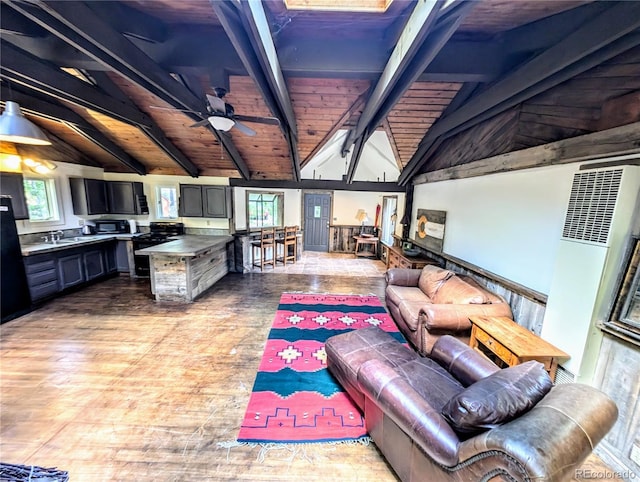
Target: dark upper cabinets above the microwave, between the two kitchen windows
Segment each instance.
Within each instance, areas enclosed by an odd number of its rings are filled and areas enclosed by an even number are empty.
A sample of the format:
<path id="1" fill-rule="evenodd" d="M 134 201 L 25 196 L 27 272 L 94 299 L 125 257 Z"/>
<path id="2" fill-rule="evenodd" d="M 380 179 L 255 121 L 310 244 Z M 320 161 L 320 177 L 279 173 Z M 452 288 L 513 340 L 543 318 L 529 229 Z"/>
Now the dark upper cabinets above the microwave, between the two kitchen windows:
<path id="1" fill-rule="evenodd" d="M 141 182 L 69 178 L 73 213 L 149 214 Z"/>

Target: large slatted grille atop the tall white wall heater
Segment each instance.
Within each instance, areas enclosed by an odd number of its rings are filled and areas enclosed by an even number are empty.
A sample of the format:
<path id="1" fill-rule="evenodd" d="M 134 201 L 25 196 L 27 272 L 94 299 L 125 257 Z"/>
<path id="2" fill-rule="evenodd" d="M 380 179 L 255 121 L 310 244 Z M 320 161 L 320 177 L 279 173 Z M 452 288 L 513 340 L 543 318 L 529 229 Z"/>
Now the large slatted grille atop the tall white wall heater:
<path id="1" fill-rule="evenodd" d="M 622 169 L 575 174 L 562 236 L 607 244 L 621 179 Z"/>

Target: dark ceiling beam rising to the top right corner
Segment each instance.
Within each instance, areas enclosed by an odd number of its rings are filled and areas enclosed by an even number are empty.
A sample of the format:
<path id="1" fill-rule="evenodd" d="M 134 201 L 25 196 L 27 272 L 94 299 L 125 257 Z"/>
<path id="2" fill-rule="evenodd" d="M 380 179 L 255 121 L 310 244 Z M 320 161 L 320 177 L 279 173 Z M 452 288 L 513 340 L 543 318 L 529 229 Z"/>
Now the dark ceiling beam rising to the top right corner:
<path id="1" fill-rule="evenodd" d="M 435 152 L 439 139 L 451 137 L 483 120 L 558 85 L 640 44 L 640 3 L 619 2 L 582 24 L 564 40 L 477 93 L 441 117 L 426 133 L 398 182 L 406 185 Z M 636 32 L 634 32 L 636 31 Z"/>

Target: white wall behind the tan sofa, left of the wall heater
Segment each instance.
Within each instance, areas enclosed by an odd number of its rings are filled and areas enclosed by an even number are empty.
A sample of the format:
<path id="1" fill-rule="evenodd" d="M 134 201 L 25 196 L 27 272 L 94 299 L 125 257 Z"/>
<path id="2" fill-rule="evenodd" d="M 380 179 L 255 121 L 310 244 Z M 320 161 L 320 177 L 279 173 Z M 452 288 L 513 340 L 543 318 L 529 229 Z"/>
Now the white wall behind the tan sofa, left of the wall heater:
<path id="1" fill-rule="evenodd" d="M 446 211 L 446 254 L 548 294 L 578 164 L 415 186 L 417 209 Z"/>

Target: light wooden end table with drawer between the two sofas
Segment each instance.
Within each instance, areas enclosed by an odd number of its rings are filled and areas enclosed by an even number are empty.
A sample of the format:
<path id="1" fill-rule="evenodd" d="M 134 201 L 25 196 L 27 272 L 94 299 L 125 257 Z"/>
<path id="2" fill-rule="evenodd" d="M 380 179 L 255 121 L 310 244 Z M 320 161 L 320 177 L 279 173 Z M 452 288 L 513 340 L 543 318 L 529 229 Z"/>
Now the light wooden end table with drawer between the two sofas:
<path id="1" fill-rule="evenodd" d="M 497 357 L 506 366 L 537 360 L 555 380 L 558 362 L 569 359 L 565 352 L 510 318 L 472 316 L 469 320 L 472 324 L 469 345 L 489 358 Z"/>

